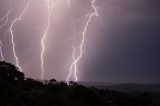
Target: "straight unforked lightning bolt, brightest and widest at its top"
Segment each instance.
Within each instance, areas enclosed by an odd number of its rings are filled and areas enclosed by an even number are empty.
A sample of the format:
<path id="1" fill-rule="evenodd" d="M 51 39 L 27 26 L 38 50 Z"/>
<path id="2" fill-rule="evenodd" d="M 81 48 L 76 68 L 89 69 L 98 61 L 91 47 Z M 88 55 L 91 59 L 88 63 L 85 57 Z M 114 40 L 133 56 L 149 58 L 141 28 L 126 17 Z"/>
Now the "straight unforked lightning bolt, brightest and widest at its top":
<path id="1" fill-rule="evenodd" d="M 41 79 L 44 78 L 44 52 L 45 52 L 45 39 L 47 36 L 47 33 L 49 31 L 49 27 L 50 27 L 50 21 L 51 21 L 51 15 L 52 15 L 52 10 L 54 8 L 54 1 L 52 0 L 46 0 L 46 5 L 47 5 L 47 9 L 48 9 L 48 21 L 47 21 L 47 27 L 44 31 L 44 35 L 41 39 L 41 46 L 42 46 L 42 51 L 41 51 L 41 70 L 42 70 L 42 76 Z"/>

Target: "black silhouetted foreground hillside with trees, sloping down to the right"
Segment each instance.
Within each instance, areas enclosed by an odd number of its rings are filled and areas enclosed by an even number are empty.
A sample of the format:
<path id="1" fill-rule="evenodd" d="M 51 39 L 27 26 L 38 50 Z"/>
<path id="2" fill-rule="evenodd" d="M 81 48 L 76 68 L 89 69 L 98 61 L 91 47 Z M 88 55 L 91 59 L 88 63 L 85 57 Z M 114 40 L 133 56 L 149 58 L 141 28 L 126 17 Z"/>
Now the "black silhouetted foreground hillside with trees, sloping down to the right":
<path id="1" fill-rule="evenodd" d="M 123 93 L 55 79 L 42 83 L 0 62 L 0 106 L 160 106 L 160 94 Z"/>

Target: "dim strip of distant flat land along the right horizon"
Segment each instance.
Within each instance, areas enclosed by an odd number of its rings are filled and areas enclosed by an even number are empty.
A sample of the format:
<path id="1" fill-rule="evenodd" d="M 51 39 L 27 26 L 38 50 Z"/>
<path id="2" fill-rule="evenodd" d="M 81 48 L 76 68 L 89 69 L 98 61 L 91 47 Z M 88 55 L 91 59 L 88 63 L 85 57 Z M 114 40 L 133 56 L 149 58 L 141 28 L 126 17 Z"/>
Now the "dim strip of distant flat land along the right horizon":
<path id="1" fill-rule="evenodd" d="M 120 92 L 158 92 L 160 93 L 160 84 L 118 84 L 104 82 L 78 82 L 89 87 L 99 89 L 111 89 Z"/>

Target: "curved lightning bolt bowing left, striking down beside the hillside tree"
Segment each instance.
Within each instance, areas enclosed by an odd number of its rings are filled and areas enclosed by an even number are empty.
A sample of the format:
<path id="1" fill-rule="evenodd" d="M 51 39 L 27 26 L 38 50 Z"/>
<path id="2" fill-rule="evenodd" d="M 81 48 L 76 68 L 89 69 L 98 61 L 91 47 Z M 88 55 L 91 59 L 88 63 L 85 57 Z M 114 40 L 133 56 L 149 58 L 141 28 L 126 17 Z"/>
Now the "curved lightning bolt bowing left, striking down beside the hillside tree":
<path id="1" fill-rule="evenodd" d="M 16 66 L 19 68 L 19 70 L 22 72 L 22 67 L 20 67 L 19 65 L 19 59 L 18 59 L 18 56 L 16 55 L 16 50 L 15 50 L 15 42 L 14 42 L 14 34 L 13 34 L 13 27 L 14 25 L 18 22 L 18 21 L 21 21 L 22 20 L 22 17 L 24 16 L 24 14 L 28 11 L 28 8 L 29 8 L 29 5 L 32 3 L 33 0 L 29 0 L 27 2 L 27 6 L 26 8 L 22 11 L 22 13 L 20 14 L 20 16 L 18 18 L 15 18 L 12 23 L 11 23 L 11 26 L 10 26 L 10 33 L 11 33 L 11 41 L 12 41 L 12 49 L 13 49 L 13 55 L 14 55 L 14 58 L 15 58 L 15 63 L 16 63 Z"/>

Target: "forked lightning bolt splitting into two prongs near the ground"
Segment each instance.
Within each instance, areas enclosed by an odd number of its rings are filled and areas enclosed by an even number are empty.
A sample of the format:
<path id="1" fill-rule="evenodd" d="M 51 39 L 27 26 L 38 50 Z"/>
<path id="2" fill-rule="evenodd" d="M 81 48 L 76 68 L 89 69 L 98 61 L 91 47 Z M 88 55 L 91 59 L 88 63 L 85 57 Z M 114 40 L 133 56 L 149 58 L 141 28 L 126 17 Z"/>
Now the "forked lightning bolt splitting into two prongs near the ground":
<path id="1" fill-rule="evenodd" d="M 78 68 L 77 68 L 77 64 L 78 64 L 78 62 L 80 61 L 80 59 L 82 58 L 82 56 L 83 56 L 83 47 L 84 47 L 84 42 L 85 42 L 85 38 L 86 38 L 87 29 L 88 29 L 88 26 L 89 26 L 92 18 L 93 18 L 94 16 L 98 16 L 98 11 L 97 11 L 97 8 L 96 8 L 96 6 L 95 6 L 95 2 L 96 2 L 96 0 L 92 0 L 92 1 L 91 1 L 91 3 L 92 3 L 92 4 L 91 4 L 91 5 L 92 5 L 92 9 L 93 9 L 94 11 L 93 11 L 92 13 L 90 13 L 90 15 L 89 15 L 89 17 L 88 17 L 88 19 L 87 19 L 87 22 L 86 22 L 86 24 L 85 24 L 85 26 L 84 26 L 84 30 L 83 30 L 83 32 L 82 32 L 82 40 L 81 40 L 81 43 L 80 43 L 80 45 L 79 45 L 79 51 L 80 51 L 80 53 L 79 53 L 78 56 L 76 56 L 76 50 L 77 50 L 77 48 L 73 47 L 73 54 L 72 54 L 73 62 L 71 63 L 70 73 L 69 73 L 69 75 L 68 75 L 68 77 L 67 77 L 67 79 L 66 79 L 67 84 L 69 84 L 69 81 L 70 81 L 70 78 L 71 78 L 72 73 L 74 73 L 74 77 L 75 77 L 75 80 L 74 80 L 74 81 L 75 81 L 75 82 L 78 81 L 78 76 L 77 76 Z"/>

